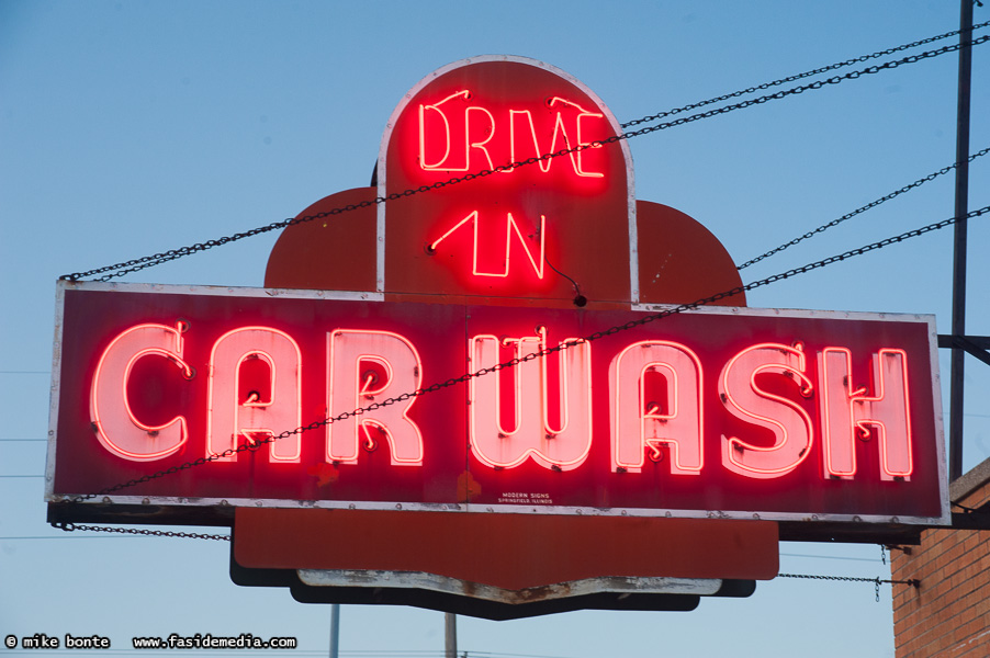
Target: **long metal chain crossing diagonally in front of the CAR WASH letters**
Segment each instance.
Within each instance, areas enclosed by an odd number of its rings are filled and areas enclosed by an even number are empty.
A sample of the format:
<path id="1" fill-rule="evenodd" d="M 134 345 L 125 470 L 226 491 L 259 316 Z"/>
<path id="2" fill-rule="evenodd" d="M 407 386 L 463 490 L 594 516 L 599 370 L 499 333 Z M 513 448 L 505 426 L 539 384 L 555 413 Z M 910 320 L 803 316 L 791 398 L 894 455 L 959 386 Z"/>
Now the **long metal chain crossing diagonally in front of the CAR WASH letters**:
<path id="1" fill-rule="evenodd" d="M 820 261 L 815 261 L 813 263 L 808 263 L 800 268 L 794 268 L 792 270 L 788 270 L 786 272 L 774 274 L 773 276 L 767 276 L 766 279 L 761 279 L 758 281 L 754 281 L 754 282 L 747 283 L 745 285 L 736 286 L 732 290 L 723 291 L 721 293 L 717 293 L 709 297 L 704 297 L 701 299 L 697 299 L 695 302 L 690 302 L 687 304 L 679 304 L 677 306 L 672 306 L 662 311 L 645 315 L 645 316 L 637 318 L 634 320 L 630 320 L 630 321 L 626 322 L 625 325 L 617 325 L 614 327 L 609 327 L 608 329 L 604 329 L 601 331 L 595 331 L 584 338 L 564 341 L 562 343 L 559 343 L 559 344 L 556 344 L 554 347 L 550 347 L 550 348 L 542 348 L 536 352 L 531 352 L 524 356 L 517 356 L 517 358 L 510 359 L 508 361 L 505 361 L 503 363 L 496 363 L 495 365 L 492 365 L 488 367 L 483 367 L 473 373 L 464 373 L 463 375 L 461 375 L 459 377 L 451 377 L 445 382 L 437 382 L 426 388 L 419 388 L 417 390 L 403 393 L 402 395 L 397 395 L 395 397 L 391 397 L 391 398 L 384 399 L 379 402 L 373 402 L 367 407 L 361 407 L 361 408 L 355 409 L 353 411 L 345 411 L 337 416 L 325 418 L 323 420 L 317 420 L 317 421 L 311 422 L 307 426 L 302 426 L 302 427 L 295 428 L 294 430 L 285 430 L 279 434 L 271 434 L 271 435 L 265 436 L 262 439 L 258 439 L 250 444 L 243 443 L 243 444 L 238 445 L 237 447 L 230 447 L 221 453 L 215 453 L 215 454 L 212 454 L 212 455 L 209 455 L 205 457 L 200 457 L 192 462 L 187 462 L 184 464 L 180 464 L 178 466 L 172 466 L 172 467 L 166 468 L 164 470 L 158 470 L 155 473 L 146 474 L 140 477 L 137 477 L 137 478 L 134 478 L 134 479 L 131 479 L 131 480 L 127 480 L 124 483 L 120 483 L 112 487 L 106 487 L 105 489 L 102 489 L 102 490 L 98 491 L 97 494 L 74 496 L 74 497 L 69 498 L 69 501 L 70 502 L 81 502 L 83 500 L 91 500 L 91 499 L 98 498 L 100 496 L 108 496 L 110 494 L 115 494 L 117 491 L 134 487 L 136 485 L 140 485 L 140 484 L 154 480 L 154 479 L 158 479 L 158 478 L 161 478 L 161 477 L 165 477 L 168 475 L 172 475 L 175 473 L 179 473 L 181 470 L 193 468 L 195 466 L 202 466 L 203 464 L 209 464 L 211 462 L 215 462 L 215 461 L 224 458 L 224 457 L 229 457 L 229 456 L 236 455 L 241 452 L 256 451 L 256 450 L 260 449 L 262 445 L 274 443 L 275 441 L 281 441 L 283 439 L 288 439 L 289 436 L 294 436 L 296 434 L 302 434 L 303 432 L 317 430 L 319 428 L 333 424 L 334 422 L 338 422 L 338 421 L 345 420 L 347 418 L 351 418 L 355 416 L 361 416 L 363 413 L 368 413 L 370 411 L 374 411 L 374 410 L 381 409 L 383 407 L 389 407 L 391 405 L 395 405 L 398 402 L 405 402 L 413 398 L 421 397 L 421 396 L 428 395 L 430 393 L 436 393 L 443 388 L 457 386 L 458 384 L 465 384 L 476 377 L 483 377 L 483 376 L 490 375 L 492 373 L 496 373 L 496 372 L 499 372 L 499 371 L 503 371 L 506 368 L 515 367 L 521 363 L 526 363 L 526 362 L 532 361 L 535 359 L 540 359 L 548 354 L 553 354 L 555 352 L 561 352 L 563 350 L 567 350 L 577 344 L 582 344 L 585 342 L 593 342 L 593 341 L 603 339 L 608 336 L 614 336 L 621 331 L 628 331 L 630 329 L 634 329 L 637 327 L 642 327 L 644 325 L 649 325 L 650 322 L 655 322 L 657 320 L 662 320 L 664 318 L 667 318 L 667 317 L 671 317 L 674 315 L 686 313 L 688 310 L 694 310 L 696 308 L 700 308 L 701 306 L 713 304 L 715 302 L 719 302 L 721 299 L 734 297 L 735 295 L 739 295 L 744 292 L 754 291 L 756 288 L 769 285 L 772 283 L 776 283 L 778 281 L 784 281 L 786 279 L 790 279 L 791 276 L 797 276 L 799 274 L 806 274 L 808 272 L 811 272 L 812 270 L 825 268 L 828 265 L 831 265 L 831 264 L 840 262 L 840 261 L 844 261 L 850 258 L 855 258 L 857 256 L 863 256 L 864 253 L 868 253 L 870 251 L 875 251 L 878 249 L 882 249 L 885 247 L 889 247 L 890 245 L 893 245 L 896 242 L 902 242 L 902 241 L 909 240 L 911 238 L 916 238 L 919 236 L 931 232 L 933 230 L 938 230 L 938 229 L 945 228 L 946 226 L 956 224 L 957 222 L 959 222 L 964 218 L 971 219 L 974 217 L 979 217 L 986 213 L 990 213 L 990 206 L 985 206 L 982 208 L 972 211 L 972 212 L 968 213 L 965 217 L 960 217 L 960 218 L 953 217 L 949 219 L 944 219 L 942 222 L 937 222 L 935 224 L 930 224 L 922 228 L 910 230 L 910 231 L 900 234 L 899 236 L 886 238 L 878 242 L 874 242 L 871 245 L 866 245 L 864 247 L 859 247 L 858 249 L 852 249 L 844 253 L 832 256 L 832 257 L 822 259 Z"/>

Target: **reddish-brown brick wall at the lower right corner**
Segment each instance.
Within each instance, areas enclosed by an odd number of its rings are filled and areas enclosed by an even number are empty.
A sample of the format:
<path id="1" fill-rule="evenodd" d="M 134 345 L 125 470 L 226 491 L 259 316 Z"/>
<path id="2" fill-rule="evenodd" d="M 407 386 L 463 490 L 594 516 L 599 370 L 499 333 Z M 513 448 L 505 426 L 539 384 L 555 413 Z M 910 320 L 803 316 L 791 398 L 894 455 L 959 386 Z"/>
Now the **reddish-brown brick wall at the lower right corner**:
<path id="1" fill-rule="evenodd" d="M 949 498 L 990 502 L 990 460 L 953 483 Z M 893 586 L 897 658 L 990 657 L 990 531 L 926 530 L 908 548 L 891 551 L 892 579 L 921 586 Z"/>

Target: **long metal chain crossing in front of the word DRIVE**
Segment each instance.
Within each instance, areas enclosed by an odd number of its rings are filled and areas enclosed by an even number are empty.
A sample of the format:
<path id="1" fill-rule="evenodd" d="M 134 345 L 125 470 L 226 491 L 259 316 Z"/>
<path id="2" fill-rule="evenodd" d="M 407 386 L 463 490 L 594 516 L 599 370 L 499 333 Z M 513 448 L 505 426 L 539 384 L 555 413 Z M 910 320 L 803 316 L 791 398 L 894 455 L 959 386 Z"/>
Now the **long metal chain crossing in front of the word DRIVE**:
<path id="1" fill-rule="evenodd" d="M 982 36 L 978 39 L 972 41 L 971 45 L 976 46 L 978 44 L 982 44 L 982 43 L 987 42 L 988 39 L 990 39 L 990 36 Z M 509 171 L 516 167 L 526 167 L 526 166 L 530 166 L 530 164 L 536 164 L 538 162 L 549 161 L 552 158 L 560 158 L 560 157 L 563 157 L 563 156 L 566 156 L 570 154 L 581 152 L 581 151 L 589 149 L 589 148 L 598 148 L 604 145 L 618 143 L 622 139 L 632 139 L 633 137 L 640 137 L 642 135 L 648 135 L 650 133 L 655 133 L 657 131 L 664 131 L 666 128 L 671 128 L 674 126 L 685 125 L 685 124 L 693 123 L 693 122 L 696 122 L 696 121 L 699 121 L 702 118 L 709 118 L 709 117 L 712 117 L 712 116 L 716 116 L 719 114 L 725 114 L 729 112 L 733 112 L 735 110 L 742 110 L 744 107 L 750 107 L 752 105 L 761 105 L 761 104 L 769 102 L 769 101 L 780 100 L 780 99 L 787 98 L 789 95 L 803 93 L 805 91 L 821 89 L 822 87 L 825 87 L 826 84 L 839 84 L 840 82 L 843 82 L 844 80 L 854 80 L 862 76 L 878 73 L 882 70 L 895 69 L 895 68 L 898 68 L 905 64 L 914 64 L 914 63 L 921 61 L 922 59 L 937 57 L 938 55 L 944 55 L 946 53 L 953 53 L 955 50 L 958 50 L 960 47 L 963 47 L 963 45 L 967 45 L 967 44 L 953 44 L 949 46 L 944 46 L 937 50 L 927 50 L 925 53 L 912 55 L 909 57 L 904 57 L 902 59 L 887 61 L 881 65 L 870 66 L 865 69 L 860 69 L 860 70 L 856 70 L 856 71 L 850 71 L 843 76 L 834 76 L 826 80 L 819 80 L 819 81 L 811 82 L 808 84 L 794 87 L 791 89 L 778 91 L 773 94 L 767 94 L 767 95 L 763 95 L 760 98 L 750 99 L 750 100 L 746 100 L 746 101 L 743 101 L 740 103 L 735 103 L 732 105 L 724 105 L 724 106 L 718 107 L 716 110 L 709 110 L 707 112 L 701 112 L 698 114 L 693 114 L 690 116 L 676 118 L 674 121 L 656 124 L 656 125 L 649 126 L 645 128 L 640 128 L 639 131 L 628 131 L 628 132 L 625 132 L 625 133 L 621 133 L 618 135 L 612 135 L 600 141 L 592 141 L 589 144 L 580 144 L 575 147 L 563 148 L 559 151 L 543 154 L 539 157 L 531 157 L 531 158 L 527 158 L 525 160 L 518 160 L 515 162 L 509 162 L 507 164 L 500 164 L 493 169 L 484 169 L 484 170 L 481 170 L 481 171 L 477 171 L 474 173 L 468 173 L 465 175 L 451 178 L 446 181 L 438 181 L 431 185 L 420 185 L 418 188 L 410 188 L 403 192 L 393 192 L 392 194 L 387 194 L 385 196 L 376 196 L 373 200 L 367 200 L 367 201 L 362 201 L 360 203 L 349 204 L 349 205 L 341 206 L 341 207 L 336 207 L 336 208 L 333 208 L 330 211 L 326 211 L 323 213 L 316 213 L 314 215 L 303 215 L 303 216 L 299 216 L 299 217 L 295 217 L 292 219 L 283 219 L 281 222 L 274 222 L 267 226 L 254 228 L 251 230 L 247 230 L 244 232 L 234 234 L 233 236 L 227 236 L 227 237 L 218 238 L 218 239 L 214 239 L 214 240 L 207 240 L 205 242 L 196 242 L 195 245 L 180 247 L 179 249 L 171 249 L 169 251 L 164 251 L 164 252 L 155 253 L 151 256 L 145 256 L 145 257 L 137 258 L 137 259 L 123 261 L 123 262 L 120 262 L 120 263 L 116 263 L 113 265 L 97 268 L 95 270 L 88 270 L 86 272 L 76 272 L 74 274 L 64 274 L 63 276 L 60 276 L 60 279 L 64 281 L 80 281 L 83 279 L 88 279 L 90 276 L 95 276 L 97 274 L 102 274 L 102 276 L 99 276 L 98 279 L 94 279 L 93 281 L 102 281 L 102 282 L 111 281 L 117 276 L 124 276 L 125 274 L 130 274 L 133 272 L 138 272 L 140 270 L 153 268 L 155 265 L 159 265 L 165 262 L 173 261 L 173 260 L 183 258 L 185 256 L 191 256 L 191 254 L 198 253 L 200 251 L 205 251 L 205 250 L 212 249 L 214 247 L 220 247 L 222 245 L 227 245 L 229 242 L 236 242 L 236 241 L 243 240 L 245 238 L 250 238 L 250 237 L 261 235 L 265 232 L 269 232 L 272 230 L 277 230 L 280 228 L 285 228 L 286 226 L 304 224 L 307 222 L 313 222 L 315 219 L 324 219 L 324 218 L 327 218 L 327 217 L 330 217 L 334 215 L 340 215 L 342 213 L 348 213 L 348 212 L 351 212 L 351 211 L 355 211 L 358 208 L 370 207 L 370 206 L 378 205 L 381 203 L 386 203 L 389 201 L 396 201 L 398 198 L 413 196 L 415 194 L 421 194 L 424 192 L 429 192 L 431 190 L 439 190 L 439 189 L 446 188 L 448 185 L 453 185 L 453 184 L 463 183 L 463 182 L 472 181 L 472 180 L 480 179 L 480 178 L 485 178 L 485 177 L 492 175 L 494 173 L 503 172 L 503 171 Z"/>

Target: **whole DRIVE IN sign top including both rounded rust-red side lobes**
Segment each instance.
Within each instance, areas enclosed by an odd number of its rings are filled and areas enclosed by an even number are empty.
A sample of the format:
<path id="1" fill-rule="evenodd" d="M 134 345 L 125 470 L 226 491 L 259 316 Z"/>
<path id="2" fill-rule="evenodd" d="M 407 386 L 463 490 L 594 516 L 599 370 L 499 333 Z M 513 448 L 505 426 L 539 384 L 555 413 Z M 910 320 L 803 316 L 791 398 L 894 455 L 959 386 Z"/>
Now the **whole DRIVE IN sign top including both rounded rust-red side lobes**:
<path id="1" fill-rule="evenodd" d="M 589 309 L 740 287 L 732 257 L 705 226 L 635 198 L 620 135 L 597 94 L 556 67 L 508 55 L 447 65 L 392 112 L 373 186 L 326 196 L 300 217 L 355 209 L 286 227 L 265 283 L 390 300 L 586 300 Z M 717 304 L 745 306 L 745 295 Z"/>

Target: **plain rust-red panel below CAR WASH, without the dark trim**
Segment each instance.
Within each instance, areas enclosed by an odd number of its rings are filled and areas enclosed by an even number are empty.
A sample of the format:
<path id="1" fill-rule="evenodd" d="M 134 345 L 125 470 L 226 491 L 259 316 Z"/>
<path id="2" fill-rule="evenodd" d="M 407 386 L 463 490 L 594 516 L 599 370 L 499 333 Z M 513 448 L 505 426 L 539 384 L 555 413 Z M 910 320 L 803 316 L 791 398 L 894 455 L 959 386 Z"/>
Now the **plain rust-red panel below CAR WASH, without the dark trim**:
<path id="1" fill-rule="evenodd" d="M 522 591 L 596 578 L 777 575 L 777 524 L 629 517 L 238 508 L 234 559 L 258 569 L 423 571 Z"/>

